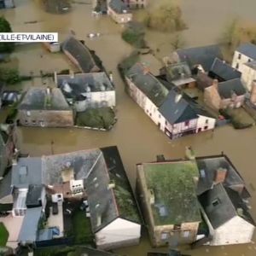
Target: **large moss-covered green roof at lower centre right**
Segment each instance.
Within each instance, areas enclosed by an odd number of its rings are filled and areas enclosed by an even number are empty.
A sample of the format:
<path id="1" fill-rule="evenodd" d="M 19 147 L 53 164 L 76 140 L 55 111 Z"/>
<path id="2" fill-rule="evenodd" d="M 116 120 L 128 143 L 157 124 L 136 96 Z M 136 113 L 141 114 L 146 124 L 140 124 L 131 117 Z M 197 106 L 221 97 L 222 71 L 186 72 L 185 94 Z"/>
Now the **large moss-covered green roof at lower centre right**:
<path id="1" fill-rule="evenodd" d="M 137 169 L 145 177 L 144 189 L 152 191 L 154 195 L 151 211 L 155 225 L 201 221 L 194 182 L 198 169 L 194 161 L 146 163 L 140 166 Z"/>

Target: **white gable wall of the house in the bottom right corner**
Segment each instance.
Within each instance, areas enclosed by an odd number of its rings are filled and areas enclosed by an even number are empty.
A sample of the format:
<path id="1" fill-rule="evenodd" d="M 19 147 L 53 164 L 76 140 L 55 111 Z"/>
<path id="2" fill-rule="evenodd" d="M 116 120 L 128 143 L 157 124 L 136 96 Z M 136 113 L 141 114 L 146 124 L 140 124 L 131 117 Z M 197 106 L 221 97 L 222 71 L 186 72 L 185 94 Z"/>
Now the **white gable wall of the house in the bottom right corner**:
<path id="1" fill-rule="evenodd" d="M 213 235 L 210 245 L 248 243 L 252 240 L 254 226 L 243 218 L 236 216 L 220 226 Z"/>

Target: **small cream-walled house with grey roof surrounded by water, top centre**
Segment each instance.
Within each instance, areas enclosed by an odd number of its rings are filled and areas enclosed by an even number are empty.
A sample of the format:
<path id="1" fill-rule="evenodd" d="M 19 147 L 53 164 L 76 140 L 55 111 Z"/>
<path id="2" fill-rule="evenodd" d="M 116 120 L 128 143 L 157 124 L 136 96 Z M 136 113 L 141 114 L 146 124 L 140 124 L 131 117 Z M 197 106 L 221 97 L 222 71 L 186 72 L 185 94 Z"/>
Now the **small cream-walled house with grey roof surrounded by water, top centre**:
<path id="1" fill-rule="evenodd" d="M 132 20 L 130 9 L 122 0 L 110 0 L 108 3 L 108 15 L 117 23 L 127 23 Z"/>

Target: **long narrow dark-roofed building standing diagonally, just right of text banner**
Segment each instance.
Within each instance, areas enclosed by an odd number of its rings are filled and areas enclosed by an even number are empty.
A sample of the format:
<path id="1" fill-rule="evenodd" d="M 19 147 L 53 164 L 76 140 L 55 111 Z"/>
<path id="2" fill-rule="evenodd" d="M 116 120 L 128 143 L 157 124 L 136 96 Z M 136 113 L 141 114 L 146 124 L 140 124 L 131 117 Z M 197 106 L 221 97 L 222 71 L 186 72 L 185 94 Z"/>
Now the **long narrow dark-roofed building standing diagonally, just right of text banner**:
<path id="1" fill-rule="evenodd" d="M 76 65 L 81 73 L 94 73 L 101 71 L 101 63 L 96 60 L 96 55 L 84 44 L 73 36 L 67 38 L 62 44 L 61 49 Z"/>

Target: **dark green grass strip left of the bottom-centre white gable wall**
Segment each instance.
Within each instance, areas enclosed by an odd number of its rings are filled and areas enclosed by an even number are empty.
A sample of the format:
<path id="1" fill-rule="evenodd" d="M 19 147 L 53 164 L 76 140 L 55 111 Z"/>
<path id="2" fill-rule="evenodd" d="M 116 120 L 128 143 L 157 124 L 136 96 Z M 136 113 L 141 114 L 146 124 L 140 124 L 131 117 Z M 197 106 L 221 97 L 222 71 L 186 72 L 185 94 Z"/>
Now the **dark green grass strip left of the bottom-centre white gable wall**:
<path id="1" fill-rule="evenodd" d="M 93 243 L 94 236 L 91 231 L 90 218 L 86 218 L 85 212 L 77 210 L 73 213 L 74 244 Z"/>

